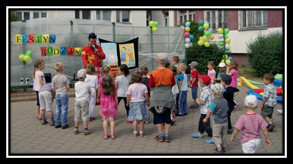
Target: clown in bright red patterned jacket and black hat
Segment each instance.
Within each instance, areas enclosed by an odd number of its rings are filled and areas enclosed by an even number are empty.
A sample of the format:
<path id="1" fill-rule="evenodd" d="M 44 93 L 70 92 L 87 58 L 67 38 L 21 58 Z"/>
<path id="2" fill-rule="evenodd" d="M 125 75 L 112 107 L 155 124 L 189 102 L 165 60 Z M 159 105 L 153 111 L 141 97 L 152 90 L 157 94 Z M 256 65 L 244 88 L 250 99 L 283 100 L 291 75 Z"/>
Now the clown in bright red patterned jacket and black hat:
<path id="1" fill-rule="evenodd" d="M 84 63 L 84 68 L 88 64 L 94 64 L 94 68 L 96 70 L 96 75 L 98 79 L 102 77 L 101 67 L 102 61 L 101 59 L 105 59 L 105 54 L 103 53 L 102 47 L 96 44 L 97 36 L 94 33 L 90 33 L 88 35 L 88 44 L 82 48 L 81 59 Z M 99 98 L 96 98 L 96 105 L 100 103 Z"/>

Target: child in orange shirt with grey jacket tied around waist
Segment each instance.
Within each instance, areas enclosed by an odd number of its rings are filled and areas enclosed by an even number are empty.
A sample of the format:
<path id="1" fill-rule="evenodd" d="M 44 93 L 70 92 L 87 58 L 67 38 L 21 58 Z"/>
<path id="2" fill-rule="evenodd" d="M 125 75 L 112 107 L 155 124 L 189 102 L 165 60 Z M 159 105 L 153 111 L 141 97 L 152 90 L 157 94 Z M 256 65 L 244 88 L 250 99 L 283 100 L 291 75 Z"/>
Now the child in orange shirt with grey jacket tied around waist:
<path id="1" fill-rule="evenodd" d="M 157 69 L 151 72 L 149 87 L 153 87 L 151 96 L 151 112 L 153 113 L 153 124 L 157 124 L 159 135 L 155 137 L 160 142 L 170 142 L 171 109 L 175 109 L 171 87 L 176 84 L 172 70 L 165 68 L 168 55 L 157 54 Z M 163 124 L 165 134 L 163 134 Z"/>

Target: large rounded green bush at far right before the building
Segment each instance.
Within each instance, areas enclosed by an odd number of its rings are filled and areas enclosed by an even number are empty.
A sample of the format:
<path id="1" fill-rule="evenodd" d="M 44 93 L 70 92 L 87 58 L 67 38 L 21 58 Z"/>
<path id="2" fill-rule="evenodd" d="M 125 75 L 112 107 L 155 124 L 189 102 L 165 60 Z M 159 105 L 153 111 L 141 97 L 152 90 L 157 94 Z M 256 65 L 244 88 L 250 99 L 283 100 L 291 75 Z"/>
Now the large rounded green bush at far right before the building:
<path id="1" fill-rule="evenodd" d="M 264 74 L 283 74 L 283 34 L 281 31 L 257 34 L 255 40 L 246 42 L 246 56 L 257 77 Z"/>

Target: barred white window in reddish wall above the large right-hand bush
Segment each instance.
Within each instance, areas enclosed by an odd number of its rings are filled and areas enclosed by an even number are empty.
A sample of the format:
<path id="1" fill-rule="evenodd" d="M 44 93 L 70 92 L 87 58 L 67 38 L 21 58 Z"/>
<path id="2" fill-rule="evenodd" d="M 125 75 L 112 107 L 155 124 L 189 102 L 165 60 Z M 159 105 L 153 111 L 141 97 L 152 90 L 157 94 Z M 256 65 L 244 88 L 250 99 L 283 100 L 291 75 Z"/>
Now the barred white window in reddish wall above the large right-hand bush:
<path id="1" fill-rule="evenodd" d="M 239 13 L 239 29 L 267 29 L 268 11 L 267 10 L 241 10 Z"/>

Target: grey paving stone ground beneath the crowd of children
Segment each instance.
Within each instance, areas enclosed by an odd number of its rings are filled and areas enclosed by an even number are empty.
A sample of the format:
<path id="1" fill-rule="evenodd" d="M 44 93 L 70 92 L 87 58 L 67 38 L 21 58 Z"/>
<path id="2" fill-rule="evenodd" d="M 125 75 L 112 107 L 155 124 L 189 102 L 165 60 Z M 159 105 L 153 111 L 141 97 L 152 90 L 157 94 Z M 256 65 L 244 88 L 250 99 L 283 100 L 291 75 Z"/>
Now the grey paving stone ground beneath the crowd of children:
<path id="1" fill-rule="evenodd" d="M 264 85 L 257 85 L 264 88 Z M 200 95 L 199 87 L 198 95 Z M 246 113 L 244 109 L 244 97 L 250 89 L 246 84 L 239 86 L 240 93 L 235 100 L 240 106 L 231 113 L 232 126 L 238 120 L 240 115 Z M 188 107 L 192 104 L 193 99 L 191 90 L 188 90 Z M 42 125 L 36 117 L 36 100 L 8 102 L 8 152 L 7 156 L 187 156 L 199 157 L 207 154 L 216 156 L 214 143 L 205 143 L 209 139 L 207 133 L 203 133 L 203 139 L 193 138 L 192 133 L 198 132 L 200 109 L 189 109 L 188 115 L 177 116 L 176 122 L 171 126 L 170 143 L 158 142 L 155 140 L 157 126 L 153 123 L 144 124 L 144 137 L 133 137 L 133 125 L 127 124 L 126 110 L 124 103 L 121 101 L 118 105 L 118 114 L 114 118 L 116 139 L 103 139 L 103 123 L 99 115 L 99 105 L 96 105 L 96 120 L 88 122 L 88 129 L 92 131 L 90 135 L 84 135 L 82 122 L 79 122 L 79 134 L 75 135 L 74 131 L 74 104 L 75 98 L 70 97 L 68 103 L 68 124 L 69 128 L 55 128 L 50 124 Z M 261 100 L 259 100 L 259 105 Z M 284 114 L 280 114 L 277 109 L 283 109 L 283 105 L 277 105 L 273 113 L 273 119 L 276 124 L 272 132 L 269 133 L 271 146 L 266 146 L 263 133 L 262 143 L 257 151 L 257 155 L 269 155 L 269 157 L 285 157 L 286 143 L 285 138 L 285 119 Z M 260 108 L 257 108 L 260 113 Z M 285 111 L 285 109 L 284 109 Z M 55 100 L 53 102 L 53 112 L 55 118 Z M 48 118 L 47 112 L 46 117 Z M 153 115 L 150 115 L 151 121 Z M 49 120 L 49 118 L 47 119 Z M 211 121 L 212 124 L 212 121 Z M 108 127 L 110 129 L 110 125 Z M 110 130 L 109 130 L 110 131 Z M 230 141 L 231 135 L 227 135 L 225 141 L 225 154 L 222 156 L 243 156 L 242 146 L 240 143 L 241 132 L 235 137 L 234 142 Z"/>

